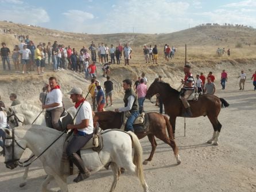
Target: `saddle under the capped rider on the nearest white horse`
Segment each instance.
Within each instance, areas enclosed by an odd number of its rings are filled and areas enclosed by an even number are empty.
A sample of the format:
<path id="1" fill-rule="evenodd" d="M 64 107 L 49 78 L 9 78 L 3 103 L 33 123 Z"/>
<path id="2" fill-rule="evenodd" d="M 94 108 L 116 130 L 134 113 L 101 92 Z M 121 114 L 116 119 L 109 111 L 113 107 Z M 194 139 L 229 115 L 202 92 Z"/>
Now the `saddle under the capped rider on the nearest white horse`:
<path id="1" fill-rule="evenodd" d="M 68 142 L 73 138 L 73 135 L 68 135 L 63 146 L 63 155 L 61 158 L 61 167 L 63 167 L 62 171 L 63 174 L 67 175 L 73 175 L 73 163 L 69 161 L 68 155 L 66 154 Z M 102 142 L 102 136 L 99 133 L 99 124 L 97 123 L 94 127 L 94 134 L 90 140 L 86 143 L 85 146 L 80 148 L 80 150 L 77 152 L 77 154 L 80 155 L 81 150 L 86 150 L 88 148 L 91 148 L 92 150 L 99 152 L 103 148 L 103 142 Z"/>

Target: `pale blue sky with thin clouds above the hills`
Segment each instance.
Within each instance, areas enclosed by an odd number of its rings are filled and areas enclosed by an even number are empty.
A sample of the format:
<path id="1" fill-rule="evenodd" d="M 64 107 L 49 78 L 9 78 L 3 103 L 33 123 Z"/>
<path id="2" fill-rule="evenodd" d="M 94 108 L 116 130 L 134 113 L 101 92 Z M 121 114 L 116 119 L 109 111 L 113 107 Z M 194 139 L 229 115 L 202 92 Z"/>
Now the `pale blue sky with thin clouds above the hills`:
<path id="1" fill-rule="evenodd" d="M 0 0 L 2 21 L 65 32 L 172 33 L 201 23 L 256 28 L 256 0 Z"/>

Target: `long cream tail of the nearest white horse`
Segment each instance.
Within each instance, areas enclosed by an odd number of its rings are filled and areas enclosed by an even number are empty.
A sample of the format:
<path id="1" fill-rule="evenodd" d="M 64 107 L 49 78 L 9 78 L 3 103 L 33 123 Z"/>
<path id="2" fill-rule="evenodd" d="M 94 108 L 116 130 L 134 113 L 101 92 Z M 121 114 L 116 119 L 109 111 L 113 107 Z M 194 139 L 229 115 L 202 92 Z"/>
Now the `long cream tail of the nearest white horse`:
<path id="1" fill-rule="evenodd" d="M 143 166 L 142 166 L 142 147 L 141 143 L 139 143 L 139 139 L 137 135 L 135 135 L 133 132 L 129 131 L 128 134 L 131 136 L 131 141 L 133 143 L 134 148 L 134 156 L 133 156 L 133 163 L 136 166 L 136 172 L 138 174 L 139 181 L 142 185 L 145 185 L 145 178 L 143 173 Z"/>

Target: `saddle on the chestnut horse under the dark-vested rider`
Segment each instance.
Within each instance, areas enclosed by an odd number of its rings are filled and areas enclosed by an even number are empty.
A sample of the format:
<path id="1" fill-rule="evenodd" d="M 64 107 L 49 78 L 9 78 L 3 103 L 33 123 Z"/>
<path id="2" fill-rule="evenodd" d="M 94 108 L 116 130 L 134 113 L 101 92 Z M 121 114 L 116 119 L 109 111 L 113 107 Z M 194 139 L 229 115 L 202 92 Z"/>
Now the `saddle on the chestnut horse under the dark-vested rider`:
<path id="1" fill-rule="evenodd" d="M 126 122 L 127 119 L 130 117 L 131 113 L 129 111 L 123 112 L 122 113 L 122 126 L 120 128 L 120 130 L 125 131 L 125 126 L 126 126 Z M 146 132 L 147 130 L 147 126 L 148 124 L 146 122 L 148 122 L 148 120 L 145 118 L 145 113 L 140 113 L 139 116 L 134 120 L 133 122 L 133 128 L 134 128 L 134 132 Z"/>

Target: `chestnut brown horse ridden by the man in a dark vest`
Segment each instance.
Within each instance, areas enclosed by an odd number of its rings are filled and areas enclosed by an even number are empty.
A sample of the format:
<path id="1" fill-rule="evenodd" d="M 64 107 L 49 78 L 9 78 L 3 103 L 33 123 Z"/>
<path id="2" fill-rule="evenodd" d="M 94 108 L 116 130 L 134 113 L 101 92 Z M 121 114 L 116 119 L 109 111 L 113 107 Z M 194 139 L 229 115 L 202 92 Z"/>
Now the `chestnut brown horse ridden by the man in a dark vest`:
<path id="1" fill-rule="evenodd" d="M 177 160 L 177 164 L 180 164 L 181 160 L 179 150 L 173 139 L 172 126 L 170 126 L 168 117 L 161 115 L 160 113 L 150 112 L 145 114 L 145 121 L 147 119 L 148 123 L 145 122 L 145 124 L 147 124 L 147 131 L 136 132 L 136 129 L 134 128 L 134 133 L 138 136 L 138 138 L 141 139 L 147 135 L 149 138 L 149 142 L 152 146 L 150 156 L 148 159 L 144 160 L 143 164 L 148 164 L 148 162 L 151 161 L 153 158 L 154 151 L 157 147 L 157 142 L 154 136 L 156 136 L 158 139 L 161 139 L 163 142 L 169 144 L 169 146 L 172 147 Z M 102 130 L 120 129 L 122 126 L 122 113 L 114 111 L 95 112 L 94 122 L 98 122 L 99 127 Z M 166 133 L 166 129 L 168 133 Z"/>

